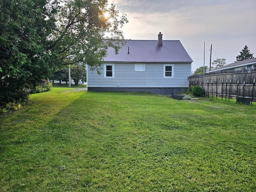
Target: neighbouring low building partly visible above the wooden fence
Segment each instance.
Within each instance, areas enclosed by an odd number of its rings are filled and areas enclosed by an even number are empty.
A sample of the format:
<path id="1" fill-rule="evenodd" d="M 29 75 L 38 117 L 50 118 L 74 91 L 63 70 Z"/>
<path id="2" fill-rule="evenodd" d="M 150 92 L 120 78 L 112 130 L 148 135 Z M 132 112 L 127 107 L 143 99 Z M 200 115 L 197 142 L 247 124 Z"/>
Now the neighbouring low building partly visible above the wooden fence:
<path id="1" fill-rule="evenodd" d="M 217 69 L 210 70 L 208 72 L 215 72 L 215 71 L 221 71 L 221 70 L 249 70 L 252 68 L 256 68 L 256 58 L 234 62 L 228 65 L 219 67 Z"/>

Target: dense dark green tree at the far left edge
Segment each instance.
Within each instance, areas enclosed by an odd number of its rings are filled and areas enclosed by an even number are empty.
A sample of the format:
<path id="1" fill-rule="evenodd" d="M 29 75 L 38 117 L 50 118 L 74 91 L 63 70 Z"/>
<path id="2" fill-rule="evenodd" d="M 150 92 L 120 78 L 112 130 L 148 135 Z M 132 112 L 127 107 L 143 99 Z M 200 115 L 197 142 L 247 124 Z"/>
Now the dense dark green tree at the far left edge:
<path id="1" fill-rule="evenodd" d="M 0 0 L 0 105 L 28 98 L 53 70 L 46 51 L 52 14 L 46 0 Z"/>

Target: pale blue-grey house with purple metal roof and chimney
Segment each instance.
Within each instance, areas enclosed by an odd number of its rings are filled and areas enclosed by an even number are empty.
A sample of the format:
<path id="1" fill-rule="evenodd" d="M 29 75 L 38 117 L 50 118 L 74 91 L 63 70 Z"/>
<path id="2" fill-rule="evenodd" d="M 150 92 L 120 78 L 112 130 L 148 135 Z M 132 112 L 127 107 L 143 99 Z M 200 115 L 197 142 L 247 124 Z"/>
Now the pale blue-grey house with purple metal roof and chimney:
<path id="1" fill-rule="evenodd" d="M 192 59 L 179 40 L 128 40 L 102 62 L 102 74 L 87 70 L 88 91 L 176 94 L 188 87 Z"/>

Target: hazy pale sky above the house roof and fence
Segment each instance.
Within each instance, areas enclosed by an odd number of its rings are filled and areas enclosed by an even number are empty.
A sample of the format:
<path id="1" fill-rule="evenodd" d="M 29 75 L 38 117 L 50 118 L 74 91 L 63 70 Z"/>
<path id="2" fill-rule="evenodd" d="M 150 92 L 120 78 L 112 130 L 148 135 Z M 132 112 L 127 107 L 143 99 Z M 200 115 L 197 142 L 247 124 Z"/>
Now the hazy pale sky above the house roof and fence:
<path id="1" fill-rule="evenodd" d="M 129 23 L 124 36 L 133 40 L 180 40 L 194 61 L 192 71 L 225 58 L 236 61 L 245 45 L 256 57 L 256 0 L 109 0 Z"/>

